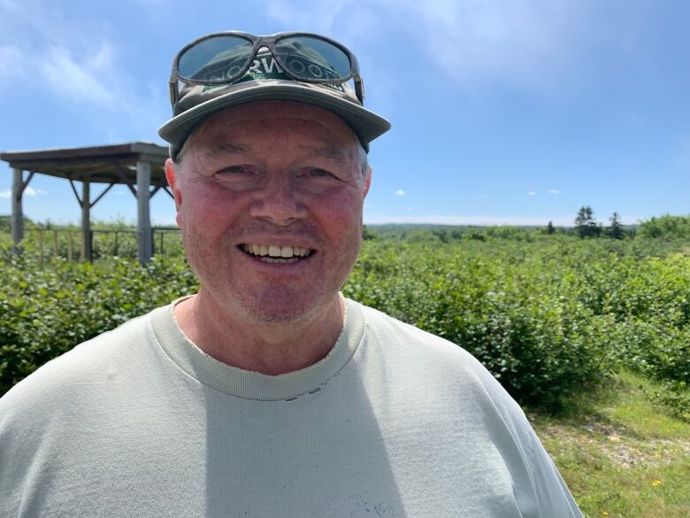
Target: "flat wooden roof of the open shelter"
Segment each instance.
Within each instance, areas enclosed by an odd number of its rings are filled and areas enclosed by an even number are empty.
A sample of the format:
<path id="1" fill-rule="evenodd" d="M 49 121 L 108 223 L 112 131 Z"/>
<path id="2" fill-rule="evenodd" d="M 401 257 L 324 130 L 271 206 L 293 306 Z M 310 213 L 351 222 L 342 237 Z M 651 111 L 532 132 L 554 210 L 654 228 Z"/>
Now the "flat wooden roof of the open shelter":
<path id="1" fill-rule="evenodd" d="M 0 153 L 0 159 L 23 171 L 129 185 L 136 184 L 136 163 L 147 161 L 151 165 L 151 184 L 160 186 L 166 184 L 164 164 L 168 156 L 167 147 L 145 142 Z"/>

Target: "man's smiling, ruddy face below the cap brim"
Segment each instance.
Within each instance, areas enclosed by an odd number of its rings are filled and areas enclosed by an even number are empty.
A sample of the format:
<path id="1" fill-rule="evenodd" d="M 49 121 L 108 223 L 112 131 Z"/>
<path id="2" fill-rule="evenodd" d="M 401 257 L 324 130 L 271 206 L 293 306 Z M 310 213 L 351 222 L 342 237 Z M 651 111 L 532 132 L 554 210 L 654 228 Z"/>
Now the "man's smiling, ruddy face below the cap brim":
<path id="1" fill-rule="evenodd" d="M 166 165 L 185 251 L 216 304 L 286 322 L 337 298 L 370 181 L 342 120 L 310 104 L 242 104 L 198 128 L 177 169 Z"/>

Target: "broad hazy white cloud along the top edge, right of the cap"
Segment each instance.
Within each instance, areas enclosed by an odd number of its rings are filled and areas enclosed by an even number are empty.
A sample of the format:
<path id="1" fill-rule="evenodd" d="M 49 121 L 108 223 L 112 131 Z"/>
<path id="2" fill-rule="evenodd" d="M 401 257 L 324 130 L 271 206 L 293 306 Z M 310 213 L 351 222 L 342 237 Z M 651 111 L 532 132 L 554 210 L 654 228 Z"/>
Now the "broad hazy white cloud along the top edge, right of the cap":
<path id="1" fill-rule="evenodd" d="M 602 44 L 626 50 L 625 42 L 640 24 L 622 5 L 591 0 L 270 0 L 265 12 L 283 27 L 360 39 L 362 48 L 361 39 L 380 42 L 400 38 L 402 32 L 426 53 L 433 72 L 468 89 L 495 84 L 544 91 L 582 80 L 575 72 L 578 64 L 591 61 Z M 378 23 L 381 17 L 395 34 Z M 609 30 L 612 18 L 618 22 L 616 34 Z"/>

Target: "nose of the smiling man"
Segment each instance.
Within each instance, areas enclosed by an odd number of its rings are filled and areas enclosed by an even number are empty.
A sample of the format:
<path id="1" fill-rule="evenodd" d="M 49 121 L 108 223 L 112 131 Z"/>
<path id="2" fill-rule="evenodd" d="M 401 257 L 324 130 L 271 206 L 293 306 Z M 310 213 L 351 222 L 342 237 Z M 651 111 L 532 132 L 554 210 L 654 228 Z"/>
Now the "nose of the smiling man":
<path id="1" fill-rule="evenodd" d="M 288 226 L 296 220 L 303 220 L 307 208 L 288 178 L 272 177 L 257 189 L 249 206 L 253 218 L 271 221 L 275 225 Z"/>

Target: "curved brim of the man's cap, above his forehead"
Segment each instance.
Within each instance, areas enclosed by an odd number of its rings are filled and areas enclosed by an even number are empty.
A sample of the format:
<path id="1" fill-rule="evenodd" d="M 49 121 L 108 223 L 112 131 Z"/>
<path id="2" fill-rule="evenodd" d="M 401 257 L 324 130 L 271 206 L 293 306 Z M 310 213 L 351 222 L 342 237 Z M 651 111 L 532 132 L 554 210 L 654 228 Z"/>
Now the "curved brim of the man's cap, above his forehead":
<path id="1" fill-rule="evenodd" d="M 367 148 L 368 143 L 390 129 L 390 122 L 380 115 L 359 104 L 326 93 L 323 87 L 295 81 L 272 81 L 268 84 L 237 89 L 197 104 L 168 120 L 158 129 L 158 135 L 174 148 L 180 149 L 194 129 L 213 113 L 238 104 L 267 100 L 314 104 L 334 112 L 353 129 Z"/>

